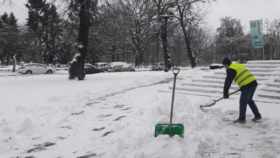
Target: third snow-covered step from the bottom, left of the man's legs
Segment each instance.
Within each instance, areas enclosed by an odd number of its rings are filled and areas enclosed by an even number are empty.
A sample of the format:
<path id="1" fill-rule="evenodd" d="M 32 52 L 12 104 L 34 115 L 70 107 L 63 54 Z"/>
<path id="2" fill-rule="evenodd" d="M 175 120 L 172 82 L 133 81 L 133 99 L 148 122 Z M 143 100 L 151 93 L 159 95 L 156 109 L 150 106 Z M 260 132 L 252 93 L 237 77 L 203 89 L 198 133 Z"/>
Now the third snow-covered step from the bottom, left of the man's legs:
<path id="1" fill-rule="evenodd" d="M 181 86 L 192 86 L 192 87 L 209 87 L 209 88 L 224 88 L 224 84 L 221 83 L 208 83 L 208 82 L 181 82 Z M 177 86 L 177 85 L 176 85 Z M 231 85 L 231 89 L 239 89 L 238 85 Z"/>

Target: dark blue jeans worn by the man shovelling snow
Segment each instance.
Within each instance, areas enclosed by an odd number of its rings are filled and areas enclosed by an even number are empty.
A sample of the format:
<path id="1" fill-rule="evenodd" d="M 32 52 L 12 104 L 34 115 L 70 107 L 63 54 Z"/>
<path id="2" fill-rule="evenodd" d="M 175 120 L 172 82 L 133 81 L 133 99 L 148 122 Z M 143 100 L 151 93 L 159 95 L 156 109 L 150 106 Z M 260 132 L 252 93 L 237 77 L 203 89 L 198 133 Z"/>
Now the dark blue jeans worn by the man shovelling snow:
<path id="1" fill-rule="evenodd" d="M 239 100 L 239 120 L 243 121 L 246 119 L 246 109 L 247 104 L 251 108 L 255 117 L 261 117 L 258 107 L 256 106 L 255 102 L 253 101 L 253 96 L 255 93 L 257 86 L 253 87 L 252 89 L 247 89 L 241 91 L 240 100 Z"/>

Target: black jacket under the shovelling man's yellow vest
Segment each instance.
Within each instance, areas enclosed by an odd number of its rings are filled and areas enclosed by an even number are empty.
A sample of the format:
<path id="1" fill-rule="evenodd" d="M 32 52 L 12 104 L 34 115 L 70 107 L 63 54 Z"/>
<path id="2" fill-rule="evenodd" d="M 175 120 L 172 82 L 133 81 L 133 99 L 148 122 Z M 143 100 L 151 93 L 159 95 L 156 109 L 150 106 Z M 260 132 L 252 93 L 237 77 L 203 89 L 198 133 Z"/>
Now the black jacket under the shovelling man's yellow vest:
<path id="1" fill-rule="evenodd" d="M 228 90 L 230 89 L 230 86 L 231 86 L 232 81 L 234 80 L 236 74 L 237 74 L 236 70 L 234 70 L 232 68 L 227 69 L 227 77 L 225 78 L 225 86 L 224 86 L 224 92 L 223 92 L 224 95 L 228 94 Z M 246 89 L 252 89 L 253 87 L 255 87 L 257 85 L 258 85 L 257 80 L 253 80 L 252 82 L 241 86 L 240 90 L 244 91 Z"/>

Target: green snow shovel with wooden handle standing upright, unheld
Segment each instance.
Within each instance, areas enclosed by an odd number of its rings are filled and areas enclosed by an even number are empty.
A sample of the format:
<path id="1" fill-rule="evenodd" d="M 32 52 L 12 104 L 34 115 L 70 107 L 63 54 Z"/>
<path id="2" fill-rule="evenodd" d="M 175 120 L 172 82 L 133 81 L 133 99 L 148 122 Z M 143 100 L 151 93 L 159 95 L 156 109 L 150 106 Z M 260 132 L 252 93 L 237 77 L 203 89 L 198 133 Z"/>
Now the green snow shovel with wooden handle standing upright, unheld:
<path id="1" fill-rule="evenodd" d="M 178 72 L 174 73 L 174 70 L 178 70 Z M 174 135 L 177 134 L 182 138 L 184 137 L 184 126 L 183 126 L 183 124 L 172 124 L 176 76 L 178 75 L 180 69 L 179 68 L 173 68 L 172 71 L 174 73 L 174 83 L 173 83 L 173 93 L 172 93 L 172 102 L 171 102 L 170 123 L 169 124 L 157 124 L 155 126 L 155 137 L 157 137 L 160 134 L 168 134 L 170 137 L 173 137 Z"/>

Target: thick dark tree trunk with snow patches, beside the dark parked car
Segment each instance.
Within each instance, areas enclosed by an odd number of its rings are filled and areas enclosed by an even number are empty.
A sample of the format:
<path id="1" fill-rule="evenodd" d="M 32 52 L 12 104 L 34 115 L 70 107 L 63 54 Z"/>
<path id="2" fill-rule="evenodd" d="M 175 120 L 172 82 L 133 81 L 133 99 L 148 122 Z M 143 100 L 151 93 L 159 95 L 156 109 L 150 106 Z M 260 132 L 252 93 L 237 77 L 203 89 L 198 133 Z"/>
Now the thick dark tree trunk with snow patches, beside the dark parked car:
<path id="1" fill-rule="evenodd" d="M 79 26 L 79 35 L 78 35 L 78 43 L 76 45 L 76 54 L 71 62 L 71 69 L 69 80 L 78 78 L 78 80 L 84 80 L 83 72 L 84 72 L 84 64 L 85 64 L 85 56 L 88 52 L 88 34 L 90 28 L 90 13 L 89 13 L 89 3 L 86 0 L 79 0 L 79 4 L 81 4 L 80 10 L 80 26 Z"/>

